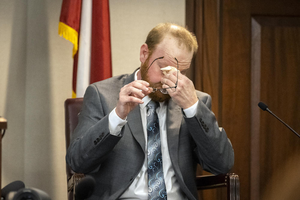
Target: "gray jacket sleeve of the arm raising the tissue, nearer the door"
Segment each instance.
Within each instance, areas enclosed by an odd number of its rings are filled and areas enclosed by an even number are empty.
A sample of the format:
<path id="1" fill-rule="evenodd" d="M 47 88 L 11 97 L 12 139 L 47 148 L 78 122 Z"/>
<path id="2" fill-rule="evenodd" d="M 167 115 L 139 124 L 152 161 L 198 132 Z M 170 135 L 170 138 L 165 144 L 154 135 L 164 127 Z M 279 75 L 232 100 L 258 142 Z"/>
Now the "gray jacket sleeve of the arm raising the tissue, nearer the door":
<path id="1" fill-rule="evenodd" d="M 211 111 L 211 96 L 205 94 L 198 97 L 196 115 L 192 118 L 184 117 L 196 144 L 194 151 L 202 169 L 216 175 L 224 174 L 234 164 L 231 142 L 225 130 L 219 128 L 215 115 Z"/>

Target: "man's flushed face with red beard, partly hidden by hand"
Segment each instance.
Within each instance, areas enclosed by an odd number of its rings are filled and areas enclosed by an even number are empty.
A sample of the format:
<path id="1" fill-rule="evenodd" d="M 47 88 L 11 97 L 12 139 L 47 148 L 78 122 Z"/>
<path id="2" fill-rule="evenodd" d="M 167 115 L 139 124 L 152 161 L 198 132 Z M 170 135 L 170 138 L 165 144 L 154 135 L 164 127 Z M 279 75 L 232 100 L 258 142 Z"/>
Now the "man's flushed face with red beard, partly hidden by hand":
<path id="1" fill-rule="evenodd" d="M 162 59 L 157 59 L 164 56 Z M 190 62 L 193 57 L 193 52 L 189 52 L 183 45 L 178 45 L 178 42 L 172 36 L 165 36 L 163 41 L 159 43 L 156 49 L 153 51 L 152 55 L 150 55 L 144 63 L 141 64 L 141 76 L 143 80 L 149 82 L 152 88 L 161 89 L 162 83 L 161 78 L 164 76 L 162 71 L 160 70 L 163 67 L 172 66 L 177 68 L 177 61 L 179 64 L 179 70 L 182 74 L 185 74 L 188 68 L 190 67 Z M 149 65 L 154 61 L 149 70 Z M 146 74 L 145 74 L 146 73 Z M 169 87 L 174 87 L 174 85 L 170 85 Z M 155 91 L 149 94 L 149 97 L 154 101 L 163 102 L 169 100 L 171 97 L 169 94 L 162 94 L 160 91 Z"/>

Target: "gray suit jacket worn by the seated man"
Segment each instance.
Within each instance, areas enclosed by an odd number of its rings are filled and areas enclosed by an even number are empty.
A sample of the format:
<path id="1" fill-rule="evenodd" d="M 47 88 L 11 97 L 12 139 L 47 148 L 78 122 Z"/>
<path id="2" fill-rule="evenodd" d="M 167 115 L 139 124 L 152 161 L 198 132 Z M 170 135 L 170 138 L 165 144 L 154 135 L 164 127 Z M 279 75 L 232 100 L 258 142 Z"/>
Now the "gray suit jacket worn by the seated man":
<path id="1" fill-rule="evenodd" d="M 127 116 L 121 137 L 110 134 L 108 115 L 120 89 L 134 81 L 125 74 L 88 86 L 66 155 L 73 171 L 90 174 L 96 188 L 90 199 L 118 199 L 139 174 L 145 160 L 145 139 L 137 106 Z M 198 199 L 195 176 L 199 163 L 214 174 L 228 172 L 234 163 L 232 145 L 211 112 L 211 97 L 197 91 L 196 116 L 186 118 L 172 99 L 167 102 L 167 143 L 176 178 L 189 199 Z"/>

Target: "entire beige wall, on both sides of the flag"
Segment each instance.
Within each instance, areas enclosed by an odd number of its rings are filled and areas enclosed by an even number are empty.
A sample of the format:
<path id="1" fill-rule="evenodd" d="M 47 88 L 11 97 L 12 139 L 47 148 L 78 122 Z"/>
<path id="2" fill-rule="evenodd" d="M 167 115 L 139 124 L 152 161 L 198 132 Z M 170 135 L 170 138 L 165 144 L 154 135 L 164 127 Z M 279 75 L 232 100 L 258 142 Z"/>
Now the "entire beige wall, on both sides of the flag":
<path id="1" fill-rule="evenodd" d="M 0 4 L 1 186 L 26 187 L 66 199 L 64 107 L 71 97 L 72 44 L 58 36 L 62 0 Z M 140 66 L 140 46 L 159 22 L 185 22 L 184 0 L 110 0 L 113 75 Z"/>

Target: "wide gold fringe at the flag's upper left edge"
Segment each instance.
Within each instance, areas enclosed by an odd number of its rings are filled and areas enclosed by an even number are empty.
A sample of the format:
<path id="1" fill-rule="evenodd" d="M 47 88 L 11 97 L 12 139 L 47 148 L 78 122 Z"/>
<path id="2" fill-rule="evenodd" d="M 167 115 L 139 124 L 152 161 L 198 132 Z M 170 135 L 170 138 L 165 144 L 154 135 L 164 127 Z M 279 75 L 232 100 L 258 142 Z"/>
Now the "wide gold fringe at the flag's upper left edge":
<path id="1" fill-rule="evenodd" d="M 58 34 L 73 43 L 73 57 L 78 50 L 78 32 L 63 22 L 58 24 Z"/>

